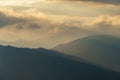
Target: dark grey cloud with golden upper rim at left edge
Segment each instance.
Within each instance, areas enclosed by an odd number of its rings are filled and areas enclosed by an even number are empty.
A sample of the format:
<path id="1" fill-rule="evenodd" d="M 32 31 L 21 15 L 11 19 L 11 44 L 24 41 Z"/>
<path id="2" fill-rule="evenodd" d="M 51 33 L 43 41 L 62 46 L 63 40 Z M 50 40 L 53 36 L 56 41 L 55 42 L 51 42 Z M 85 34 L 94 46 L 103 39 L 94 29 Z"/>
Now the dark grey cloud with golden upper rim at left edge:
<path id="1" fill-rule="evenodd" d="M 0 28 L 15 26 L 16 29 L 39 29 L 40 25 L 34 23 L 34 19 L 28 17 L 19 17 L 16 14 L 9 15 L 9 13 L 4 13 L 0 11 Z"/>

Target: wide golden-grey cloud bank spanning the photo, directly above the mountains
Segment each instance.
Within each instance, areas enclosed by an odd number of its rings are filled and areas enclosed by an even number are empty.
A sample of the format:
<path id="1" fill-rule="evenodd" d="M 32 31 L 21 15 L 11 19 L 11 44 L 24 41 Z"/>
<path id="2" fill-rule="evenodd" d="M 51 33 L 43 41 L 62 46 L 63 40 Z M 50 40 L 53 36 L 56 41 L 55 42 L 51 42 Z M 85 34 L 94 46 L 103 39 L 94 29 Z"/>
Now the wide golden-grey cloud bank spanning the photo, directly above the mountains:
<path id="1" fill-rule="evenodd" d="M 119 36 L 119 22 L 120 15 L 79 17 L 47 14 L 36 9 L 19 12 L 11 8 L 2 8 L 0 10 L 0 39 L 10 45 L 14 43 L 22 47 L 51 48 L 81 36 L 93 34 Z M 26 42 L 29 45 L 26 46 Z"/>

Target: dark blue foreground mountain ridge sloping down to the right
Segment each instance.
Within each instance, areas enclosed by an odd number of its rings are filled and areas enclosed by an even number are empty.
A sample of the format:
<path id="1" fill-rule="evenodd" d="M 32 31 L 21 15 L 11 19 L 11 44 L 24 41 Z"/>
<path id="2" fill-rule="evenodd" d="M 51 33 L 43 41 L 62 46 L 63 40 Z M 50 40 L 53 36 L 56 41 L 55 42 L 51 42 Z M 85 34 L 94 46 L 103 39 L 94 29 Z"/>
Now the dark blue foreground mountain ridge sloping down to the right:
<path id="1" fill-rule="evenodd" d="M 53 50 L 0 46 L 0 80 L 120 80 L 120 73 Z"/>

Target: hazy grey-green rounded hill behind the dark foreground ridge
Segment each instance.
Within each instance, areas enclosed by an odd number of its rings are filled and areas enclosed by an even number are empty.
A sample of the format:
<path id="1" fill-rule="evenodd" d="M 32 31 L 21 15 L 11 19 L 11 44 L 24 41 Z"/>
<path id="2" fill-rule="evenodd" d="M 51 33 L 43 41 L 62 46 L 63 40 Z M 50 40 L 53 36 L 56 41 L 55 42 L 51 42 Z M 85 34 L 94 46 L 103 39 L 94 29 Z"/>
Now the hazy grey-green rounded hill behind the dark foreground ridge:
<path id="1" fill-rule="evenodd" d="M 120 72 L 120 38 L 108 35 L 89 36 L 56 46 L 54 50 Z"/>

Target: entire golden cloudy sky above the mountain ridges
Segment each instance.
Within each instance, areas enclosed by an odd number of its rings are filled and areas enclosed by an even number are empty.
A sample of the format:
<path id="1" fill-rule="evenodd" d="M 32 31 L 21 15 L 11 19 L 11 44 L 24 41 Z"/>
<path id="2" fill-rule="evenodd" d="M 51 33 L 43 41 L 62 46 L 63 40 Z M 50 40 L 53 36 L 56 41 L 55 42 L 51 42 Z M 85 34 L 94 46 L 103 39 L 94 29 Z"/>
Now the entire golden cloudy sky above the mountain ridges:
<path id="1" fill-rule="evenodd" d="M 120 0 L 0 0 L 0 44 L 29 48 L 120 37 Z"/>

